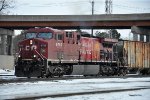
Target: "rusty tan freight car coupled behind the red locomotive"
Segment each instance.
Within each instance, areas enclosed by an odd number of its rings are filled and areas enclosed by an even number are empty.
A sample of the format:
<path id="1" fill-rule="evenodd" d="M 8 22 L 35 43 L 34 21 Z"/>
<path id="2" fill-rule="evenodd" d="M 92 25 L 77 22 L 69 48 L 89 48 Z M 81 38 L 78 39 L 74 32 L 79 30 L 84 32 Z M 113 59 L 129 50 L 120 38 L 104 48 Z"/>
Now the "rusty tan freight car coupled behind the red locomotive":
<path id="1" fill-rule="evenodd" d="M 131 73 L 150 74 L 150 43 L 142 41 L 120 41 L 123 49 L 120 58 L 126 59 Z M 122 56 L 122 57 L 121 57 Z"/>

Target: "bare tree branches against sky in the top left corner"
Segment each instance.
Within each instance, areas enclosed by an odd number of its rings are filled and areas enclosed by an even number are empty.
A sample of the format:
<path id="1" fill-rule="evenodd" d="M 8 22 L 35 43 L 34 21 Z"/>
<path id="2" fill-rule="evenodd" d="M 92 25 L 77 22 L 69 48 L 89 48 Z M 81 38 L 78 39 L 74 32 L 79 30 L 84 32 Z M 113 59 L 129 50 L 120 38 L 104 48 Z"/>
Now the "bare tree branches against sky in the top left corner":
<path id="1" fill-rule="evenodd" d="M 14 0 L 0 0 L 0 13 L 4 10 L 14 8 Z"/>

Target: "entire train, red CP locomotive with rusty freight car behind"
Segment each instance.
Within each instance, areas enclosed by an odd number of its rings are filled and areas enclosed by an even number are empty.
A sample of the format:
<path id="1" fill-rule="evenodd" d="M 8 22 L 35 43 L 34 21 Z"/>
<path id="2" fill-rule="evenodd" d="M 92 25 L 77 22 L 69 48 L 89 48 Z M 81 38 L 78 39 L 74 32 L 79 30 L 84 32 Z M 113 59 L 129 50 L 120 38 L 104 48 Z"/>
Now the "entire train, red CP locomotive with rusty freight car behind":
<path id="1" fill-rule="evenodd" d="M 24 34 L 25 39 L 18 43 L 17 77 L 126 75 L 129 70 L 143 74 L 150 71 L 150 43 L 91 37 L 86 32 L 53 28 L 31 28 Z"/>

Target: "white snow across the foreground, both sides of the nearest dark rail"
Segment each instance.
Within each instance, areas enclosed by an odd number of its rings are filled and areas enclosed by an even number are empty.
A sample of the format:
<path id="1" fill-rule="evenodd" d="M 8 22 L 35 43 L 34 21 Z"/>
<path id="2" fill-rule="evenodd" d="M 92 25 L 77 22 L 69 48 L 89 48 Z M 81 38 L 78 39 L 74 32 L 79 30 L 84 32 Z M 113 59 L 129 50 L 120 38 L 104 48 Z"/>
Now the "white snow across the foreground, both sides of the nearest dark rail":
<path id="1" fill-rule="evenodd" d="M 74 80 L 70 79 L 70 80 L 50 80 L 50 81 L 25 82 L 25 83 L 9 83 L 9 84 L 0 84 L 0 99 L 13 99 L 25 96 L 43 96 L 43 95 L 65 94 L 65 93 L 130 89 L 140 87 L 150 87 L 150 77 L 74 79 Z M 141 91 L 144 91 L 144 93 Z M 120 98 L 124 97 L 125 94 L 127 97 L 130 97 L 131 100 L 132 98 L 142 98 L 142 100 L 149 100 L 147 99 L 147 97 L 150 98 L 150 95 L 147 95 L 149 93 L 150 89 L 140 90 L 139 92 L 132 91 L 132 92 L 105 93 L 93 95 L 91 94 L 91 95 L 71 96 L 53 99 L 75 100 L 77 98 L 82 100 L 93 100 L 93 98 L 95 98 L 97 100 L 120 100 Z M 115 96 L 113 97 L 113 95 Z M 52 98 L 46 99 L 51 100 Z"/>

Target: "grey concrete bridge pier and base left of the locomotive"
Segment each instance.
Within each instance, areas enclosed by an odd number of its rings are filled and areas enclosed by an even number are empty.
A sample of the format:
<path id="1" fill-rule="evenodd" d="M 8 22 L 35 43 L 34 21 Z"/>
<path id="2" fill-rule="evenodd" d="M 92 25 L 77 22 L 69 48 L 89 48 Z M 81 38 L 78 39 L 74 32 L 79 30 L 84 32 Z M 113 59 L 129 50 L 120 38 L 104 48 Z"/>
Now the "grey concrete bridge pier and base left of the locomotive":
<path id="1" fill-rule="evenodd" d="M 0 28 L 0 69 L 13 69 L 14 67 L 13 35 L 13 30 Z"/>

